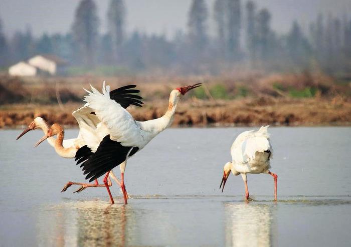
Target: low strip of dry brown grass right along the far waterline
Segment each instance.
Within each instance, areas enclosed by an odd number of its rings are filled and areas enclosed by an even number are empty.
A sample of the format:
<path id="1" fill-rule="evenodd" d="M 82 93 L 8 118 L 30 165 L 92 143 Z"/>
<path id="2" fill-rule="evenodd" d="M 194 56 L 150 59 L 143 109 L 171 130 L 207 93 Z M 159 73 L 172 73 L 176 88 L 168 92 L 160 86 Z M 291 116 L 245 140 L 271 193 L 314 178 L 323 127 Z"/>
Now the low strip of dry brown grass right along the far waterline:
<path id="1" fill-rule="evenodd" d="M 275 99 L 261 97 L 208 103 L 189 99 L 181 102 L 173 126 L 256 126 L 256 125 L 350 125 L 351 103 L 342 99 Z M 50 123 L 75 126 L 72 111 L 80 104 L 17 105 L 0 110 L 0 128 L 28 125 L 41 116 Z M 145 102 L 142 108 L 130 107 L 136 120 L 158 118 L 167 109 L 166 101 Z"/>

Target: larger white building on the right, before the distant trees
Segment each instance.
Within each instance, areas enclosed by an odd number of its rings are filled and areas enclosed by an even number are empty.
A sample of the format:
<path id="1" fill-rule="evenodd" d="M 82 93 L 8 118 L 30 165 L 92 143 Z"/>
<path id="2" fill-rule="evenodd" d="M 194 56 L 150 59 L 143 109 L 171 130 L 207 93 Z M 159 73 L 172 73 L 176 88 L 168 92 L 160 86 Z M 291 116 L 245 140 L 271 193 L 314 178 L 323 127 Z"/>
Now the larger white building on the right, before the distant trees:
<path id="1" fill-rule="evenodd" d="M 65 60 L 54 55 L 37 55 L 28 60 L 28 63 L 51 75 L 62 74 L 67 65 Z"/>

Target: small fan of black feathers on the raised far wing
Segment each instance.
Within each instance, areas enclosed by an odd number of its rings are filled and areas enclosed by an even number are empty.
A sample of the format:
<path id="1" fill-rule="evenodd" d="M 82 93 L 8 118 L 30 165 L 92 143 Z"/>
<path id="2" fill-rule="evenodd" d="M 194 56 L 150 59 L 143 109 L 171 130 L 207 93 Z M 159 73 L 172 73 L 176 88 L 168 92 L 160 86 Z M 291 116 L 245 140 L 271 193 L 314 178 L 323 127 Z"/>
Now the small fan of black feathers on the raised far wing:
<path id="1" fill-rule="evenodd" d="M 144 104 L 141 100 L 142 97 L 136 95 L 139 93 L 139 90 L 131 89 L 135 88 L 136 85 L 127 85 L 110 92 L 110 99 L 116 101 L 120 104 L 123 108 L 127 108 L 130 105 L 139 106 L 141 107 Z"/>

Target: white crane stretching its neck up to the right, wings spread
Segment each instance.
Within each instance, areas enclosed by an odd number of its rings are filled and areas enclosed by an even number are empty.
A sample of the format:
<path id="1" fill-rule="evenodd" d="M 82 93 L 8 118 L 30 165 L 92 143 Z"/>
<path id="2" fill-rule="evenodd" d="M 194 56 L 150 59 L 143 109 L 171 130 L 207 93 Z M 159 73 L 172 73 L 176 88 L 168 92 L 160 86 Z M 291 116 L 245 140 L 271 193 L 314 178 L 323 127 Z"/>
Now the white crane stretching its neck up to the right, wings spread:
<path id="1" fill-rule="evenodd" d="M 200 86 L 201 83 L 197 83 L 172 90 L 166 113 L 160 118 L 144 122 L 135 121 L 120 104 L 111 100 L 109 86 L 105 87 L 105 83 L 102 94 L 91 87 L 91 92 L 87 91 L 89 95 L 85 96 L 84 101 L 93 109 L 101 123 L 98 124 L 95 133 L 82 131 L 85 143 L 93 152 L 89 155 L 86 150 L 79 149 L 76 155 L 77 164 L 82 163 L 80 167 L 83 168 L 84 174 L 87 174 L 86 179 L 92 181 L 107 173 L 106 178 L 110 170 L 120 165 L 120 186 L 124 203 L 127 204 L 124 171 L 128 158 L 170 126 L 179 100 L 188 91 Z"/>

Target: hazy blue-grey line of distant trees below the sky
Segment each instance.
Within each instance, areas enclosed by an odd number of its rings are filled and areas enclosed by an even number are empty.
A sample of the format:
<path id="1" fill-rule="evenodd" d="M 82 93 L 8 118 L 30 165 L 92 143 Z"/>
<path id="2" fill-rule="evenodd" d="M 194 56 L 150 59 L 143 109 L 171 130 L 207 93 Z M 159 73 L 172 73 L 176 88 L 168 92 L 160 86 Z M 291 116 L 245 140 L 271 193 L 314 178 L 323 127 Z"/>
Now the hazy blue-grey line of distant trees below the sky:
<path id="1" fill-rule="evenodd" d="M 128 33 L 123 0 L 110 0 L 108 32 L 99 33 L 93 0 L 81 0 L 67 34 L 34 38 L 30 27 L 6 37 L 0 21 L 0 66 L 35 54 L 55 54 L 72 66 L 128 68 L 130 71 L 172 71 L 183 74 L 220 73 L 233 68 L 266 71 L 320 69 L 326 73 L 351 71 L 351 19 L 319 14 L 303 32 L 297 21 L 287 34 L 271 28 L 271 14 L 253 1 L 216 0 L 213 16 L 204 0 L 193 0 L 188 30 L 164 35 Z M 213 21 L 216 35 L 208 32 Z"/>

